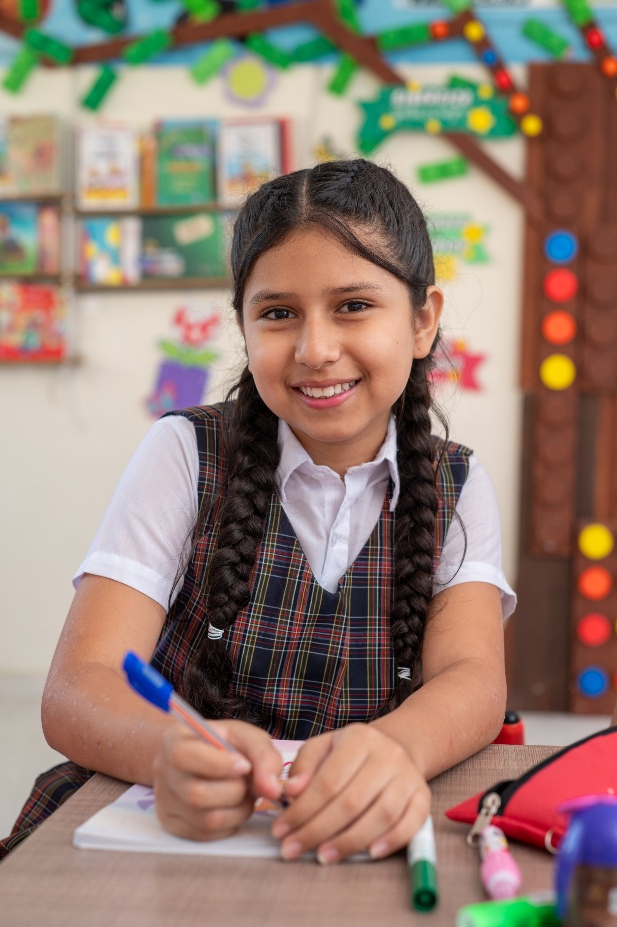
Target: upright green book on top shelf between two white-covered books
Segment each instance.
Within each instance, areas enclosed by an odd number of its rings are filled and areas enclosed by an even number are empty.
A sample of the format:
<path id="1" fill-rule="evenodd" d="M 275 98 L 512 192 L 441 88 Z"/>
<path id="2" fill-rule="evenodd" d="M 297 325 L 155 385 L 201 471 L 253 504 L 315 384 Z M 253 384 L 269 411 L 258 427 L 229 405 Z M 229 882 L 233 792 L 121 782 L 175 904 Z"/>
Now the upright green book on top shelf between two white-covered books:
<path id="1" fill-rule="evenodd" d="M 156 129 L 159 206 L 191 206 L 215 199 L 214 165 L 218 123 L 168 120 Z"/>

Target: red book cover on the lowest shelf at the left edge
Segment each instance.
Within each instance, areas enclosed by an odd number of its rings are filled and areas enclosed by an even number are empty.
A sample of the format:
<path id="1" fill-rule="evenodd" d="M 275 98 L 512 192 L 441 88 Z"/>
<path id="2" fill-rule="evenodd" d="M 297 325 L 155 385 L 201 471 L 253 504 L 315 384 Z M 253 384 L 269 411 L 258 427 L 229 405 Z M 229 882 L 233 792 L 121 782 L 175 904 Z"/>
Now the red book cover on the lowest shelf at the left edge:
<path id="1" fill-rule="evenodd" d="M 56 287 L 0 282 L 0 362 L 66 357 L 64 304 Z"/>

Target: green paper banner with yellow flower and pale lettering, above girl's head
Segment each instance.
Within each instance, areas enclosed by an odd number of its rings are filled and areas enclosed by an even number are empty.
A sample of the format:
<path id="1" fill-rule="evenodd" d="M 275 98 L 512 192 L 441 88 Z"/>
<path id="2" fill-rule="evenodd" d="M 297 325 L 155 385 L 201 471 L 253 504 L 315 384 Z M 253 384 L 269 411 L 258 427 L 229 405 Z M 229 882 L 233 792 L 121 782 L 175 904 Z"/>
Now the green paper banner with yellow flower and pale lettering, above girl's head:
<path id="1" fill-rule="evenodd" d="M 506 138 L 516 132 L 508 101 L 492 87 L 385 87 L 372 101 L 360 102 L 364 122 L 358 148 L 373 152 L 393 132 L 465 132 L 479 138 Z"/>

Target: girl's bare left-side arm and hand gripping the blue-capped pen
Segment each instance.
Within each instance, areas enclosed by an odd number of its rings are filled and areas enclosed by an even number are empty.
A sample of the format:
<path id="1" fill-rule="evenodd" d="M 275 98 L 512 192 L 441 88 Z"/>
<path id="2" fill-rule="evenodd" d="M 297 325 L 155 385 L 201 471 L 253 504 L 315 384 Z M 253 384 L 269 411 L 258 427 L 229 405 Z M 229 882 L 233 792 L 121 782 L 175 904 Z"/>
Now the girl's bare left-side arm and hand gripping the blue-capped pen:
<path id="1" fill-rule="evenodd" d="M 43 731 L 81 766 L 153 785 L 157 814 L 173 833 L 227 836 L 251 814 L 253 793 L 279 796 L 281 759 L 264 731 L 240 721 L 213 723 L 249 762 L 215 750 L 130 689 L 124 655 L 135 650 L 149 660 L 164 619 L 148 596 L 86 574 L 45 686 Z"/>

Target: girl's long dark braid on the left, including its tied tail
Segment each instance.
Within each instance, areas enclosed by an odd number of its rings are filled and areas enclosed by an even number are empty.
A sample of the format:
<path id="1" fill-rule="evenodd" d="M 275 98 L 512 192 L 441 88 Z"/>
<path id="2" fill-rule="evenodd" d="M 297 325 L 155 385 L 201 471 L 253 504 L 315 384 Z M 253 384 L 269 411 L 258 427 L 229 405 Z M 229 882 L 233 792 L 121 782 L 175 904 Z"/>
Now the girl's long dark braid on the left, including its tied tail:
<path id="1" fill-rule="evenodd" d="M 236 388 L 237 401 L 225 422 L 225 498 L 207 577 L 208 625 L 223 632 L 249 600 L 279 461 L 278 419 L 261 399 L 248 368 Z M 248 718 L 245 700 L 230 694 L 232 675 L 225 633 L 218 640 L 206 636 L 187 666 L 184 694 L 207 717 Z"/>

